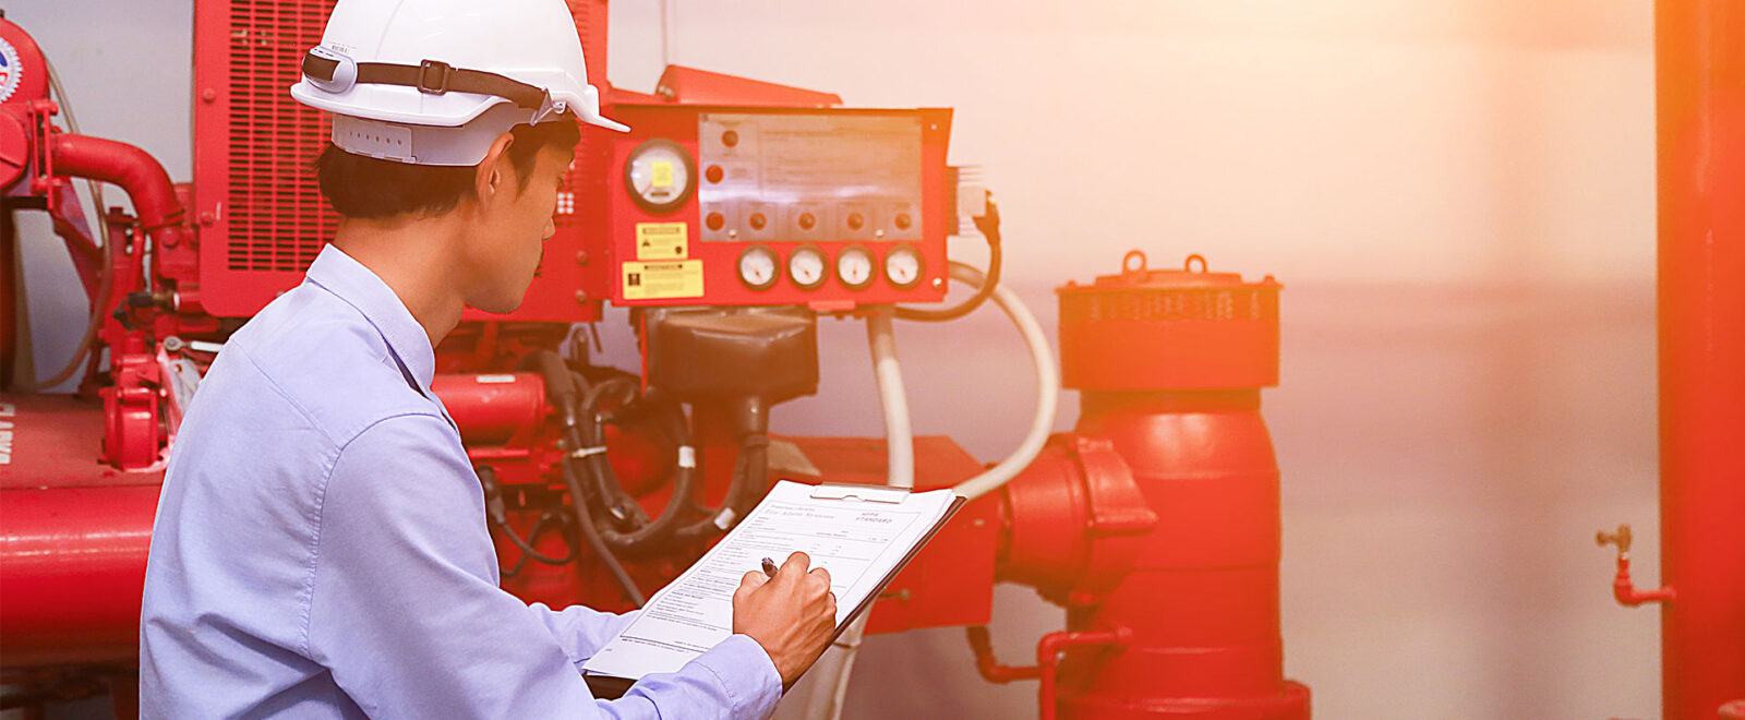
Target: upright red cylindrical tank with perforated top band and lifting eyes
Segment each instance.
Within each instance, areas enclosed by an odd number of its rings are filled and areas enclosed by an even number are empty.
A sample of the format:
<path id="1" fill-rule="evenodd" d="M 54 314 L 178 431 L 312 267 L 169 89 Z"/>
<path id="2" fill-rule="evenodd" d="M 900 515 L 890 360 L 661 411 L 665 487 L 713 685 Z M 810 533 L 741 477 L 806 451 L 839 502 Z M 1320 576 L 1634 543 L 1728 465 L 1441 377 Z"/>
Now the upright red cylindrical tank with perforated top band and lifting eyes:
<path id="1" fill-rule="evenodd" d="M 1126 627 L 1120 652 L 1068 650 L 1063 718 L 1307 718 L 1279 636 L 1279 468 L 1260 388 L 1279 381 L 1279 288 L 1148 269 L 1068 283 L 1061 376 L 1077 432 L 1113 442 L 1157 514 L 1133 570 L 1068 603 L 1068 629 Z"/>

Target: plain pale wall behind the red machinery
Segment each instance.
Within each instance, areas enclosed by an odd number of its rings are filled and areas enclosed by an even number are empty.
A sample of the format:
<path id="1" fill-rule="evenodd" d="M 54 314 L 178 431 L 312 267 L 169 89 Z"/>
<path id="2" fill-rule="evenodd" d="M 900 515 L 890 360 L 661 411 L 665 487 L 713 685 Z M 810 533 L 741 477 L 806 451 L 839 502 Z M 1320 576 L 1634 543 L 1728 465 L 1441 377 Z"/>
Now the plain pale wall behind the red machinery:
<path id="1" fill-rule="evenodd" d="M 611 12 L 609 77 L 647 91 L 656 0 Z M 54 54 L 87 133 L 187 178 L 188 0 L 7 14 Z M 1612 605 L 1591 540 L 1633 523 L 1639 582 L 1656 578 L 1649 0 L 677 0 L 670 16 L 681 65 L 956 108 L 953 163 L 984 168 L 1007 278 L 1050 327 L 1050 288 L 1127 248 L 1284 281 L 1265 412 L 1286 671 L 1317 717 L 1658 715 L 1656 613 Z M 26 243 L 31 283 L 54 276 L 45 229 Z M 37 285 L 35 325 L 77 325 L 68 297 Z M 988 460 L 1016 442 L 1028 374 L 998 313 L 899 341 L 918 432 Z M 54 343 L 72 337 L 40 343 L 40 365 Z M 777 428 L 876 435 L 862 346 L 825 323 L 825 388 Z M 1033 592 L 996 592 L 1003 659 L 1059 624 Z M 982 683 L 960 631 L 879 636 L 850 717 L 1028 717 L 1033 690 Z"/>

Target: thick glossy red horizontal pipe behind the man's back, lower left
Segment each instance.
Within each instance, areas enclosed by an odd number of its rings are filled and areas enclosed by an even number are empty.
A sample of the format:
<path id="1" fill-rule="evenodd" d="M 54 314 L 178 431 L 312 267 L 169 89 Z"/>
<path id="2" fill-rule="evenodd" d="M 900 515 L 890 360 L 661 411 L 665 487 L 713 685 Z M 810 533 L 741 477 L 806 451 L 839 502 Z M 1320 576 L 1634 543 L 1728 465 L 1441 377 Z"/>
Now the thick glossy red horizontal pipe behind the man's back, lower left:
<path id="1" fill-rule="evenodd" d="M 138 657 L 157 489 L 0 491 L 0 668 Z"/>

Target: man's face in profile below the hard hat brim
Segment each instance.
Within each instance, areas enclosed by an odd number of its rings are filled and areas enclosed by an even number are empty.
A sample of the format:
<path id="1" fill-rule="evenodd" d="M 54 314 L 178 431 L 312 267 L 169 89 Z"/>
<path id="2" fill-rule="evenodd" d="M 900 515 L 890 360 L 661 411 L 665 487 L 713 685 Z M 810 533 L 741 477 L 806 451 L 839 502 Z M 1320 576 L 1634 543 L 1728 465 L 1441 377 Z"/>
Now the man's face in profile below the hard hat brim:
<path id="1" fill-rule="evenodd" d="M 572 156 L 571 149 L 541 149 L 525 189 L 513 177 L 515 164 L 503 163 L 508 175 L 501 185 L 504 196 L 480 217 L 478 232 L 469 243 L 469 306 L 487 313 L 510 313 L 522 306 L 527 285 L 539 269 L 543 245 L 557 234 L 551 215 Z"/>

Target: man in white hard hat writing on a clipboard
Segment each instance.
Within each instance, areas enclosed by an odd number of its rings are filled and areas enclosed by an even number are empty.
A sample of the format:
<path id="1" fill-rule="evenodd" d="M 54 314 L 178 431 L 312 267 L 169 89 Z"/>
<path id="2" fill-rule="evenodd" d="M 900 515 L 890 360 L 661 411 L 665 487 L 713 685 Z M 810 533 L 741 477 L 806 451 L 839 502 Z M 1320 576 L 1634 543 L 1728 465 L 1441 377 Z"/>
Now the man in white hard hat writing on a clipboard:
<path id="1" fill-rule="evenodd" d="M 140 629 L 152 718 L 761 718 L 834 629 L 829 575 L 749 573 L 735 634 L 597 701 L 628 619 L 497 587 L 483 496 L 431 391 L 466 306 L 522 302 L 600 117 L 564 0 L 340 0 L 291 94 L 333 114 L 344 217 L 225 344 L 164 477 Z M 797 571 L 789 571 L 797 570 Z"/>

